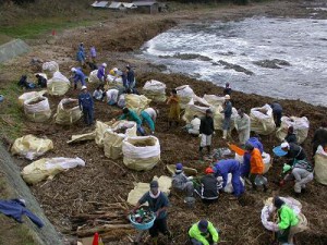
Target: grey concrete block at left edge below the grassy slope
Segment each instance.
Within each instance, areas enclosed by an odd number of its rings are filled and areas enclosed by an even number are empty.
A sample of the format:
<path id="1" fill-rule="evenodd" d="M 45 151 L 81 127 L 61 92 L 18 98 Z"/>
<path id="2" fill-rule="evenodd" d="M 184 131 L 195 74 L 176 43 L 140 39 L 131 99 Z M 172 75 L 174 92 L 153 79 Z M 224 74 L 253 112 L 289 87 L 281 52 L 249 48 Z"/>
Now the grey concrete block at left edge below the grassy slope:
<path id="1" fill-rule="evenodd" d="M 0 63 L 29 51 L 29 46 L 21 39 L 9 41 L 0 46 Z"/>

